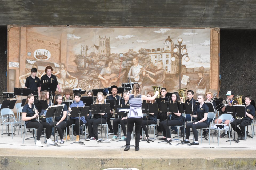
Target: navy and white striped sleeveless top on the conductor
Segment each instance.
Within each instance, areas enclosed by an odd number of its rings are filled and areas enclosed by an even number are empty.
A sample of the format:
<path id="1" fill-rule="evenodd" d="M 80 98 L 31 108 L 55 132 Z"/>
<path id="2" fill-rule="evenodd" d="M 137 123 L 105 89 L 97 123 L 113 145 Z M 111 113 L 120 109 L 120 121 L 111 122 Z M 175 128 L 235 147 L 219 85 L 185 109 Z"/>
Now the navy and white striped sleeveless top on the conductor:
<path id="1" fill-rule="evenodd" d="M 128 118 L 129 117 L 135 117 L 135 118 L 143 117 L 143 114 L 141 111 L 141 105 L 142 105 L 141 95 L 137 95 L 134 98 L 134 95 L 131 94 L 129 96 L 129 103 L 130 103 L 130 111 L 128 114 Z"/>

